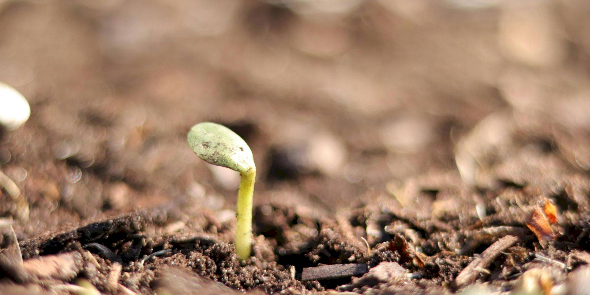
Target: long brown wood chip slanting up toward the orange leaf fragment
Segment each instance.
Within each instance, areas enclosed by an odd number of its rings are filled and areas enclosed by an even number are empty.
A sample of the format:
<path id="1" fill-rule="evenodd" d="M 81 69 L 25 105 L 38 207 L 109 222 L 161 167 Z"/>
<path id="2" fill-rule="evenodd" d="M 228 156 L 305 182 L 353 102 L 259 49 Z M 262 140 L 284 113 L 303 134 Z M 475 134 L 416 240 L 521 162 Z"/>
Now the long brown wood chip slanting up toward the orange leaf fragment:
<path id="1" fill-rule="evenodd" d="M 466 268 L 463 268 L 461 273 L 459 273 L 455 279 L 455 287 L 462 287 L 476 281 L 481 272 L 487 271 L 487 267 L 500 257 L 502 251 L 512 247 L 518 241 L 520 241 L 520 238 L 514 237 L 513 235 L 507 235 L 494 242 L 494 244 L 491 244 L 490 247 L 479 255 L 479 257 L 471 261 Z"/>

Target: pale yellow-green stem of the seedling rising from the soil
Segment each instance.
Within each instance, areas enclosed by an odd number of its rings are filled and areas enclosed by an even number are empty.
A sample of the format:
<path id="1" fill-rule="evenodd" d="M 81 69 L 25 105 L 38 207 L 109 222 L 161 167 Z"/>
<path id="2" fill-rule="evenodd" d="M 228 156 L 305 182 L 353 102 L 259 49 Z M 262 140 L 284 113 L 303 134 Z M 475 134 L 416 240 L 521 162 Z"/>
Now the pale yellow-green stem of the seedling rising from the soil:
<path id="1" fill-rule="evenodd" d="M 235 229 L 235 253 L 240 260 L 250 257 L 252 247 L 252 199 L 256 169 L 241 173 L 238 191 L 237 226 Z"/>

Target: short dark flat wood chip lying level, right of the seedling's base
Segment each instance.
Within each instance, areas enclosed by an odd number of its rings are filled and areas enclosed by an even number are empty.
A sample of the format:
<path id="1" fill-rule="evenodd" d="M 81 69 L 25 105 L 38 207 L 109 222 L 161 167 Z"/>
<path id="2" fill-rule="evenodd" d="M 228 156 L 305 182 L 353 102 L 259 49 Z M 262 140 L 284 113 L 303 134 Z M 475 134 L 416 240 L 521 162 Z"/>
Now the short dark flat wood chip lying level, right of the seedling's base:
<path id="1" fill-rule="evenodd" d="M 330 280 L 333 278 L 360 276 L 369 271 L 364 263 L 330 264 L 303 268 L 301 281 Z"/>

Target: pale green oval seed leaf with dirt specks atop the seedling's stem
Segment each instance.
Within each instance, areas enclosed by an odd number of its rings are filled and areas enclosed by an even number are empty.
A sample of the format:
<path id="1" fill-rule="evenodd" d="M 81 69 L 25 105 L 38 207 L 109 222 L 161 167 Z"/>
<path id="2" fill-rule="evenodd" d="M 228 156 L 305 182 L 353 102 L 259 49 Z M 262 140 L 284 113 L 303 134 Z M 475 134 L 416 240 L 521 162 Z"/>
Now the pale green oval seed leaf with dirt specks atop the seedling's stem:
<path id="1" fill-rule="evenodd" d="M 247 143 L 231 129 L 203 122 L 192 126 L 186 136 L 195 154 L 213 165 L 245 173 L 254 166 L 254 156 Z"/>

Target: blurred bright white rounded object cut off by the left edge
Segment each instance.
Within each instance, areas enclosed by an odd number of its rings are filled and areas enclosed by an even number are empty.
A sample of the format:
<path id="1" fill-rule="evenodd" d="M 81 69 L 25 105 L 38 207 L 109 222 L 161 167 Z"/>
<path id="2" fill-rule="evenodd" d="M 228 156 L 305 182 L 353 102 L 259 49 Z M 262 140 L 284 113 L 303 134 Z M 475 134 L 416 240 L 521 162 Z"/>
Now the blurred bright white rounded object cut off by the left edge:
<path id="1" fill-rule="evenodd" d="M 0 82 L 0 125 L 15 130 L 27 122 L 31 107 L 16 89 Z"/>

